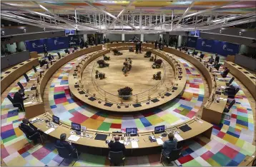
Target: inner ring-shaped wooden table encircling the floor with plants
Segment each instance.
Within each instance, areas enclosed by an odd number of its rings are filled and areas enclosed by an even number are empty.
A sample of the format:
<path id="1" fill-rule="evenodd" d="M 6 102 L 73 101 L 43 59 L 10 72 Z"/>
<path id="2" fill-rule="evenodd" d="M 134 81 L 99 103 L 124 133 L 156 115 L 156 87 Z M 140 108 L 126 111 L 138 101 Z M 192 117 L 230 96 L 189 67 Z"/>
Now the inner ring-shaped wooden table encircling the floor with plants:
<path id="1" fill-rule="evenodd" d="M 123 48 L 127 48 L 126 46 L 121 46 Z M 112 49 L 115 49 L 114 47 Z M 110 49 L 110 50 L 112 50 Z M 122 49 L 122 48 L 119 48 Z M 184 90 L 184 86 L 186 84 L 186 70 L 182 63 L 175 59 L 174 56 L 169 56 L 164 54 L 162 51 L 154 51 L 151 48 L 142 47 L 144 51 L 152 51 L 152 54 L 156 54 L 162 59 L 166 60 L 169 64 L 171 64 L 174 69 L 175 80 L 171 87 L 168 87 L 167 90 L 159 94 L 157 97 L 152 97 L 146 101 L 136 101 L 135 103 L 114 103 L 112 101 L 106 101 L 108 98 L 105 95 L 104 99 L 97 98 L 92 93 L 89 92 L 86 86 L 83 86 L 81 83 L 82 80 L 82 72 L 86 68 L 86 66 L 99 58 L 100 56 L 109 53 L 109 49 L 104 51 L 98 51 L 90 56 L 86 56 L 81 61 L 77 62 L 74 65 L 72 70 L 69 72 L 69 89 L 71 93 L 79 98 L 80 101 L 84 103 L 88 103 L 91 106 L 101 108 L 107 111 L 117 111 L 117 112 L 134 112 L 134 111 L 142 111 L 148 108 L 154 108 L 156 106 L 162 105 L 163 103 L 167 103 L 172 99 L 176 98 L 182 91 Z M 136 96 L 136 95 L 135 95 Z"/>

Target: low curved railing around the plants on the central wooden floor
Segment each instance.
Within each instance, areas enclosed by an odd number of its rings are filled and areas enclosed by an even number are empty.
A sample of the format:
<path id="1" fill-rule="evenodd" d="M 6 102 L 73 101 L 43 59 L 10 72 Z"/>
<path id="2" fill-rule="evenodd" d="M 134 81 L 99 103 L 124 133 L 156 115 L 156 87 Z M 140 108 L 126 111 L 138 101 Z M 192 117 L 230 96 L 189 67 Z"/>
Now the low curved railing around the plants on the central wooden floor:
<path id="1" fill-rule="evenodd" d="M 100 59 L 100 58 L 98 58 L 98 59 Z M 119 96 L 119 95 L 115 95 L 113 93 L 109 93 L 107 91 L 104 91 L 104 89 L 101 88 L 100 86 L 98 86 L 96 81 L 94 81 L 93 74 L 94 74 L 94 71 L 96 71 L 95 68 L 97 66 L 97 60 L 98 59 L 96 59 L 96 61 L 94 62 L 94 65 L 92 67 L 92 84 L 94 85 L 94 87 L 96 88 L 98 93 L 100 93 L 100 94 L 102 94 L 102 96 L 104 96 L 104 98 L 105 98 L 104 100 L 105 101 L 113 101 L 115 103 L 123 103 L 123 98 L 127 98 L 127 101 L 125 101 L 125 102 L 129 102 L 129 103 L 133 103 L 134 99 L 135 99 L 136 102 L 139 102 L 139 100 L 147 101 L 147 100 L 149 100 L 151 98 L 150 95 L 152 93 L 154 93 L 154 91 L 156 91 L 164 83 L 164 79 L 165 79 L 165 76 L 166 76 L 166 69 L 165 69 L 165 64 L 164 64 L 164 61 L 163 61 L 162 62 L 162 68 L 164 70 L 164 75 L 163 75 L 162 79 L 159 81 L 159 83 L 157 83 L 157 85 L 153 86 L 152 88 L 149 88 L 149 90 L 143 91 L 142 93 L 137 93 L 137 94 L 134 94 L 134 95 L 129 95 L 129 96 Z M 159 96 L 161 94 L 162 93 L 159 93 Z"/>

